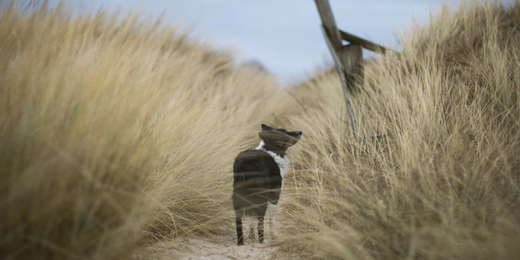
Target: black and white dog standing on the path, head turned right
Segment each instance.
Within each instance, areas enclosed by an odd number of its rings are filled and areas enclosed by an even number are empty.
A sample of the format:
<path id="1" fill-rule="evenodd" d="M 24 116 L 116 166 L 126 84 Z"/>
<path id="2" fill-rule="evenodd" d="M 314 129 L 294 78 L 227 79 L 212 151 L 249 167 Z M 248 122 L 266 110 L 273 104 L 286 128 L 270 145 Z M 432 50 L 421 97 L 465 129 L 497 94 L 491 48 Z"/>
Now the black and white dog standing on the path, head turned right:
<path id="1" fill-rule="evenodd" d="M 269 215 L 271 238 L 276 225 L 276 205 L 282 191 L 283 175 L 289 170 L 287 148 L 302 137 L 301 131 L 287 132 L 262 124 L 262 141 L 254 149 L 238 154 L 233 165 L 233 207 L 235 208 L 238 244 L 244 245 L 242 217 L 249 218 L 250 235 L 256 233 L 264 242 L 264 216 Z"/>

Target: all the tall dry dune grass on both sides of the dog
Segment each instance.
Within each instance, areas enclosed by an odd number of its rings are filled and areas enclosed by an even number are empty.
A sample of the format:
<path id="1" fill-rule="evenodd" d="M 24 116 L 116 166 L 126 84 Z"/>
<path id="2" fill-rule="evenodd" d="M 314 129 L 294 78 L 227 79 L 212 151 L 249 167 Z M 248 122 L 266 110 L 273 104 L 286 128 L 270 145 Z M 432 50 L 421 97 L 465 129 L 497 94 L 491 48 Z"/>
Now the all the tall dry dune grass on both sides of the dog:
<path id="1" fill-rule="evenodd" d="M 126 259 L 209 234 L 260 123 L 302 130 L 280 244 L 313 259 L 520 255 L 520 4 L 444 8 L 367 66 L 353 100 L 292 95 L 171 26 L 60 7 L 0 11 L 0 257 Z"/>

